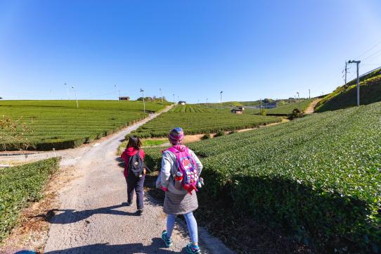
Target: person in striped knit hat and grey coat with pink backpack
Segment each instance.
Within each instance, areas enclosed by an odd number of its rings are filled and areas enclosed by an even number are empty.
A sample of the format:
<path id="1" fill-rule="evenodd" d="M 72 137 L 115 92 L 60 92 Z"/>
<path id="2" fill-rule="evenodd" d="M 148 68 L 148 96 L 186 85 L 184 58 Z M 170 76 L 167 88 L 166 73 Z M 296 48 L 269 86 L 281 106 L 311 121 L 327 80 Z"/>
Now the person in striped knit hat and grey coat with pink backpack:
<path id="1" fill-rule="evenodd" d="M 198 227 L 193 211 L 198 208 L 197 186 L 200 186 L 202 164 L 191 149 L 183 145 L 183 129 L 176 127 L 169 132 L 172 147 L 162 153 L 162 168 L 156 186 L 165 191 L 164 213 L 167 214 L 167 229 L 162 231 L 165 246 L 172 246 L 172 231 L 176 215 L 183 215 L 191 235 L 186 251 L 200 253 Z"/>

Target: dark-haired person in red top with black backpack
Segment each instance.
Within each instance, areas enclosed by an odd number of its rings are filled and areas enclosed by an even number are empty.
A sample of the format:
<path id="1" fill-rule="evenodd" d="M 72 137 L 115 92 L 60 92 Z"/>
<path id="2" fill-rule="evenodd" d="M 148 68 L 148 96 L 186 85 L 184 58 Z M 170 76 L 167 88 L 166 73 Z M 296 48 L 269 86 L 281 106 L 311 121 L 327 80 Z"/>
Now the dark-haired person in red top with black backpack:
<path id="1" fill-rule="evenodd" d="M 136 206 L 138 215 L 144 213 L 144 179 L 146 178 L 146 165 L 144 165 L 144 151 L 137 136 L 129 136 L 127 148 L 120 157 L 124 160 L 124 177 L 127 182 L 127 205 L 132 205 L 134 191 L 136 193 Z"/>

